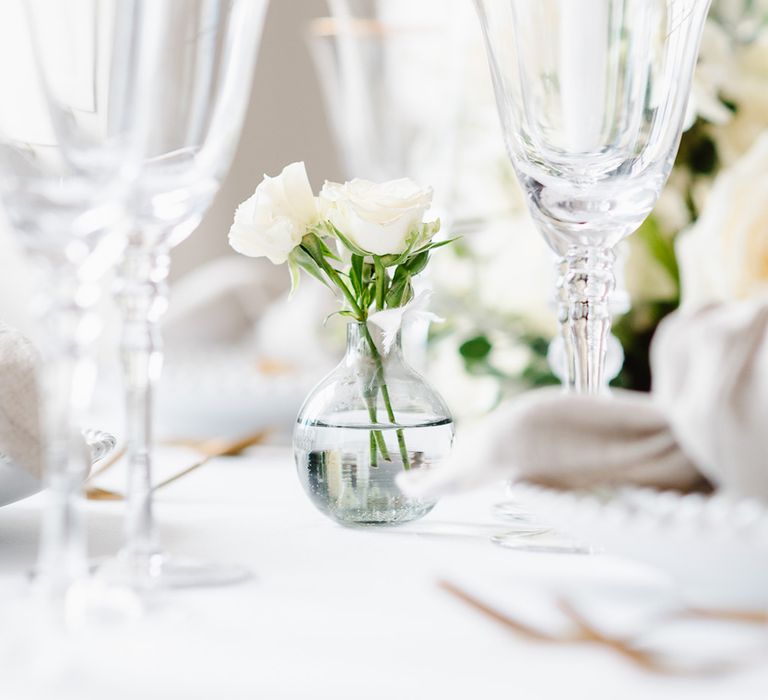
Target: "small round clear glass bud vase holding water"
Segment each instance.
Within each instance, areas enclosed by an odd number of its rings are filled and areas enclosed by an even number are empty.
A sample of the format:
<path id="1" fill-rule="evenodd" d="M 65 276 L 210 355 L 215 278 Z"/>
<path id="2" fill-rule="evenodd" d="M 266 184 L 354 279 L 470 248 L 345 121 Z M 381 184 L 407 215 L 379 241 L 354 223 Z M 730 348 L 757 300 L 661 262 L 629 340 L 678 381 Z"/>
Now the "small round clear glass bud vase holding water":
<path id="1" fill-rule="evenodd" d="M 453 418 L 440 395 L 386 343 L 373 324 L 350 323 L 341 364 L 299 412 L 293 450 L 301 483 L 330 518 L 350 526 L 421 518 L 434 500 L 411 498 L 396 478 L 435 469 L 453 444 Z"/>

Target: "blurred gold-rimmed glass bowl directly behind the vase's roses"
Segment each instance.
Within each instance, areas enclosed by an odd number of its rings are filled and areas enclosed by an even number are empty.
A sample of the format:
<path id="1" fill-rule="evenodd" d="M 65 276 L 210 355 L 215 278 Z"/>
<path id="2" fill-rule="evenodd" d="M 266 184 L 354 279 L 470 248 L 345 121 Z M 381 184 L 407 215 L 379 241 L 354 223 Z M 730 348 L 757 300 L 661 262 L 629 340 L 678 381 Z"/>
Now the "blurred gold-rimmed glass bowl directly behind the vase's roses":
<path id="1" fill-rule="evenodd" d="M 331 15 L 310 24 L 309 47 L 345 176 L 407 176 L 450 199 L 462 20 L 471 6 L 465 10 L 462 0 L 328 0 L 328 6 Z"/>

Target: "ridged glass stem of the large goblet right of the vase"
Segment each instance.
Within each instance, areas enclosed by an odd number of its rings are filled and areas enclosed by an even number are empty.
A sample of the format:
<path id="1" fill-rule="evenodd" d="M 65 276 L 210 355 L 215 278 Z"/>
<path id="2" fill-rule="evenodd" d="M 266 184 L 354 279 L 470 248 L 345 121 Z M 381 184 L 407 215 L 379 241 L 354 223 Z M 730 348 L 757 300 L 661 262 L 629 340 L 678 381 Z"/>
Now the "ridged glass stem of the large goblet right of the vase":
<path id="1" fill-rule="evenodd" d="M 574 247 L 561 266 L 559 316 L 568 361 L 568 388 L 576 393 L 600 394 L 605 390 L 615 260 L 610 248 Z"/>

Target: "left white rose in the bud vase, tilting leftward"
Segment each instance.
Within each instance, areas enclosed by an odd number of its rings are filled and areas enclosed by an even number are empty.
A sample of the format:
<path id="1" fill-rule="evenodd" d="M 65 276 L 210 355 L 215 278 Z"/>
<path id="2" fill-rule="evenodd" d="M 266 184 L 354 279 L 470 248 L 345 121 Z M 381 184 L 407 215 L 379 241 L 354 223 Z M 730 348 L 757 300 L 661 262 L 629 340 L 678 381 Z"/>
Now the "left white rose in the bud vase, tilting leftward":
<path id="1" fill-rule="evenodd" d="M 253 195 L 237 208 L 229 244 L 238 253 L 267 257 L 280 265 L 319 221 L 306 167 L 291 163 L 277 177 L 265 175 Z"/>

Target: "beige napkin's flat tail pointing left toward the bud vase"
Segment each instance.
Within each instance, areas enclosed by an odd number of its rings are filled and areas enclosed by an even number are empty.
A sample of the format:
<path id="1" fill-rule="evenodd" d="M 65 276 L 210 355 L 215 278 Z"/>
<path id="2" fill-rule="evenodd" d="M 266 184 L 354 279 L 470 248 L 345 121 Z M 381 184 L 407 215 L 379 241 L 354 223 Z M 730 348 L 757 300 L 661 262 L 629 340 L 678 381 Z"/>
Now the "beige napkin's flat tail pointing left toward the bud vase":
<path id="1" fill-rule="evenodd" d="M 701 482 L 661 411 L 645 394 L 522 394 L 472 428 L 459 430 L 450 461 L 400 479 L 413 495 L 438 495 L 499 479 L 560 488 L 633 483 L 689 490 Z"/>

